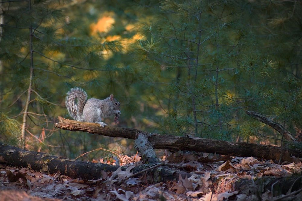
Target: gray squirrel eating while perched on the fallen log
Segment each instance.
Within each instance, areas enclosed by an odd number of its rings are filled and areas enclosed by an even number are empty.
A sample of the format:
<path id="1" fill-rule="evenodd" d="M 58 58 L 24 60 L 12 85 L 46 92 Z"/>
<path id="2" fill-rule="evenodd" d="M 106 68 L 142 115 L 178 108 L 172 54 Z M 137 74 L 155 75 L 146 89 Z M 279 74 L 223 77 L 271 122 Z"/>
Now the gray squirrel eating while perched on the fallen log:
<path id="1" fill-rule="evenodd" d="M 75 103 L 75 99 L 78 99 Z M 111 94 L 104 100 L 91 98 L 87 100 L 87 93 L 81 88 L 72 88 L 65 97 L 65 104 L 69 115 L 76 121 L 98 123 L 101 127 L 107 124 L 102 121 L 102 117 L 114 116 L 114 121 L 120 115 L 120 103 Z"/>

